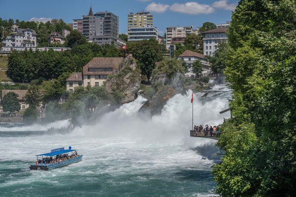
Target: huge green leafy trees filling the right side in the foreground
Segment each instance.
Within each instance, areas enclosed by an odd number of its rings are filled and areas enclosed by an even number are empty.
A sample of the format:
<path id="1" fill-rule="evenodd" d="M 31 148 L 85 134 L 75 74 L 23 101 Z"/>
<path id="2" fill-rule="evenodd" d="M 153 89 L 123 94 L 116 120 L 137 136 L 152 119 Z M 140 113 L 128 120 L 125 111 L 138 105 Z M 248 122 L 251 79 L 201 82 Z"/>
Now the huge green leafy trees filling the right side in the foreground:
<path id="1" fill-rule="evenodd" d="M 241 0 L 232 14 L 224 73 L 233 118 L 222 125 L 225 155 L 213 169 L 221 196 L 296 196 L 295 4 Z"/>

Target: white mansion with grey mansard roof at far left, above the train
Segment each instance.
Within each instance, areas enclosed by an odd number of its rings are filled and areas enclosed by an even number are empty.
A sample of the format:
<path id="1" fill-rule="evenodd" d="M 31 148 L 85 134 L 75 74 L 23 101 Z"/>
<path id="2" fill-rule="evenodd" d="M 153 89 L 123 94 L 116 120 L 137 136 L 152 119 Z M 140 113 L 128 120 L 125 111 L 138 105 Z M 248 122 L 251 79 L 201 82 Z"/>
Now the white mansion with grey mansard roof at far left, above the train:
<path id="1" fill-rule="evenodd" d="M 11 35 L 2 40 L 2 44 L 8 47 L 36 47 L 37 33 L 30 29 L 16 28 Z"/>

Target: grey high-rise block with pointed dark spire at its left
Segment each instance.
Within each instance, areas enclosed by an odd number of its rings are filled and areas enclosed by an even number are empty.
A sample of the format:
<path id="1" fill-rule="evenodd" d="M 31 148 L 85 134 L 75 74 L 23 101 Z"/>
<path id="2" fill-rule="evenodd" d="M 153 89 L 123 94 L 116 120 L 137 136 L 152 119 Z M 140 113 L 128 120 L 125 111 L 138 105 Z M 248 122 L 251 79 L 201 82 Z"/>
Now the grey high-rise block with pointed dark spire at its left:
<path id="1" fill-rule="evenodd" d="M 105 11 L 93 14 L 90 8 L 87 16 L 82 16 L 82 34 L 89 42 L 95 35 L 113 35 L 118 37 L 119 19 L 115 14 Z"/>

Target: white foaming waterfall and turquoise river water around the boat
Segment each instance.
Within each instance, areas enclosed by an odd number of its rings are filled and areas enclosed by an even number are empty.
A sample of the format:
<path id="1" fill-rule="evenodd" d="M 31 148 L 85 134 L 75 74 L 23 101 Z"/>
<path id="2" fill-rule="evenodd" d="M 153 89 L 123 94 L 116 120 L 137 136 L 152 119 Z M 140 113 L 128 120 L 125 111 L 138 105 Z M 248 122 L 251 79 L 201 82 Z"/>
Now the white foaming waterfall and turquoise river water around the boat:
<path id="1" fill-rule="evenodd" d="M 211 166 L 219 162 L 212 139 L 189 137 L 192 92 L 176 95 L 160 115 L 138 113 L 139 97 L 69 134 L 46 134 L 67 121 L 30 127 L 0 124 L 0 196 L 212 197 Z M 218 125 L 229 113 L 230 91 L 216 85 L 194 95 L 194 124 Z M 72 146 L 81 162 L 30 171 L 36 154 Z"/>

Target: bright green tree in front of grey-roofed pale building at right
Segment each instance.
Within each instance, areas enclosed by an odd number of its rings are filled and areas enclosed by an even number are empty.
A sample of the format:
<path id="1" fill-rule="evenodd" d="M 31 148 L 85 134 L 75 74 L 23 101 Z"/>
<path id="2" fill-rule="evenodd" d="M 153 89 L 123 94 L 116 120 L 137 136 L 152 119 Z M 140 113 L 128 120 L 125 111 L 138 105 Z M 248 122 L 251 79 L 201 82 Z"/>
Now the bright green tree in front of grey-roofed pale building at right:
<path id="1" fill-rule="evenodd" d="M 214 56 L 207 56 L 207 59 L 214 73 L 223 73 L 229 55 L 229 44 L 228 42 L 218 42 L 215 47 L 217 50 Z"/>

